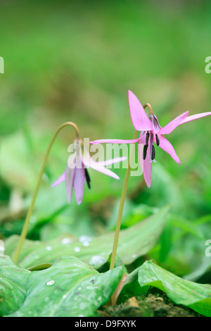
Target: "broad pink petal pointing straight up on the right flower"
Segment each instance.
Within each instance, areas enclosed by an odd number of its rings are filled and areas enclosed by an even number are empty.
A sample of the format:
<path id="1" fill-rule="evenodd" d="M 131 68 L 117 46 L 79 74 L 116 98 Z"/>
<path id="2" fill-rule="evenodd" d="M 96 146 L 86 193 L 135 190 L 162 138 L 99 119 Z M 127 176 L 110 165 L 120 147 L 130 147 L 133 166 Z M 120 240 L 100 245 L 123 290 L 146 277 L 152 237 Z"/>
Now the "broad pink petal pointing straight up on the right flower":
<path id="1" fill-rule="evenodd" d="M 128 91 L 129 111 L 134 128 L 138 131 L 153 130 L 151 120 L 146 115 L 146 112 L 141 105 L 139 99 L 131 91 Z"/>

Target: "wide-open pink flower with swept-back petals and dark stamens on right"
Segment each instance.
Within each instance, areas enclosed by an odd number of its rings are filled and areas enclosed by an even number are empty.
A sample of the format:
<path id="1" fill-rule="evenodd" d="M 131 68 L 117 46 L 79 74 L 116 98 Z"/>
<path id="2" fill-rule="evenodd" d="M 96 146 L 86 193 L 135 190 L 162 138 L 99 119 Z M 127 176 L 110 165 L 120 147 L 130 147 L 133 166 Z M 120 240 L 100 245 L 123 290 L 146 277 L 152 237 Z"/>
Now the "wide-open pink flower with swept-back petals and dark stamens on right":
<path id="1" fill-rule="evenodd" d="M 170 123 L 161 127 L 158 123 L 158 118 L 150 112 L 149 115 L 146 114 L 143 106 L 141 105 L 139 99 L 131 92 L 128 92 L 129 96 L 129 110 L 132 118 L 132 123 L 137 131 L 140 131 L 139 138 L 137 139 L 101 139 L 91 142 L 91 144 L 101 144 L 103 142 L 112 144 L 133 144 L 138 142 L 138 153 L 139 162 L 143 171 L 143 177 L 146 181 L 148 187 L 151 186 L 151 172 L 152 163 L 155 161 L 155 146 L 160 146 L 161 149 L 166 151 L 174 161 L 181 163 L 179 157 L 174 151 L 172 144 L 164 137 L 171 133 L 178 125 L 190 122 L 191 120 L 196 120 L 198 118 L 211 115 L 211 112 L 200 113 L 196 115 L 188 116 L 188 111 L 182 113 L 181 115 L 174 118 Z"/>

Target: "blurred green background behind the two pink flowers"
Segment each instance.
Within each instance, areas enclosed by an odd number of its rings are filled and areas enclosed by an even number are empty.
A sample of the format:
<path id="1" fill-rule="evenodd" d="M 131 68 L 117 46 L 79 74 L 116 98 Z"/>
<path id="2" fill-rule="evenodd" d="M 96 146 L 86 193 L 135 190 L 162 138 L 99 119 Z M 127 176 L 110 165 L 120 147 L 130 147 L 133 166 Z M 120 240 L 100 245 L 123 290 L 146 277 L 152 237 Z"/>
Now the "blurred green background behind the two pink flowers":
<path id="1" fill-rule="evenodd" d="M 41 161 L 66 120 L 93 139 L 133 136 L 127 91 L 149 102 L 164 126 L 174 117 L 211 110 L 210 1 L 3 1 L 0 4 L 0 233 L 19 234 Z M 151 189 L 131 177 L 122 227 L 172 204 L 159 256 L 184 275 L 205 257 L 211 237 L 211 119 L 181 125 L 168 139 L 181 165 L 156 148 Z M 90 170 L 91 190 L 67 204 L 67 128 L 53 146 L 28 237 L 98 235 L 115 226 L 125 169 L 116 181 Z M 173 239 L 172 239 L 173 238 Z M 159 246 L 160 247 L 160 246 Z M 156 249 L 153 253 L 156 256 Z M 188 263 L 187 263 L 188 261 Z"/>

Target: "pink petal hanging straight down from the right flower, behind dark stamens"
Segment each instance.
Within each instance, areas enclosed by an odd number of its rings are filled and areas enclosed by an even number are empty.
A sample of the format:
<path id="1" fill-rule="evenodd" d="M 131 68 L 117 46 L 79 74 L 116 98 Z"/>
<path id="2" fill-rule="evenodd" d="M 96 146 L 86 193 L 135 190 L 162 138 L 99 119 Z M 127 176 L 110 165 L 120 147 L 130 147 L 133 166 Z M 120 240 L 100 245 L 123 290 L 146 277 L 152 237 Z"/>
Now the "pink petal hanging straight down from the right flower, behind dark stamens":
<path id="1" fill-rule="evenodd" d="M 143 146 L 146 144 L 146 135 L 143 135 L 138 144 L 139 163 L 143 171 L 143 177 L 148 187 L 151 187 L 152 161 L 151 148 L 148 146 L 146 158 L 143 160 Z"/>

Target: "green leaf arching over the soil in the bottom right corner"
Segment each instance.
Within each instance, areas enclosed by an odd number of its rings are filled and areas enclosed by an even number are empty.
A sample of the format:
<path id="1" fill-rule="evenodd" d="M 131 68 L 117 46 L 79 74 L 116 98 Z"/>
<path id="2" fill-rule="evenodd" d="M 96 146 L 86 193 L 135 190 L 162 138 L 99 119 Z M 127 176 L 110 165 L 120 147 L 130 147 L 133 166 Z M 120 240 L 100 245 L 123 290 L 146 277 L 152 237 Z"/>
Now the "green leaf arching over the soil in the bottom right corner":
<path id="1" fill-rule="evenodd" d="M 158 287 L 176 304 L 182 304 L 194 311 L 211 316 L 211 285 L 198 284 L 162 269 L 151 261 L 143 263 L 139 270 L 139 284 Z"/>

